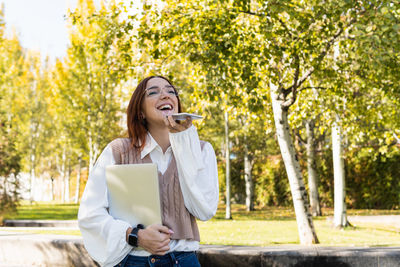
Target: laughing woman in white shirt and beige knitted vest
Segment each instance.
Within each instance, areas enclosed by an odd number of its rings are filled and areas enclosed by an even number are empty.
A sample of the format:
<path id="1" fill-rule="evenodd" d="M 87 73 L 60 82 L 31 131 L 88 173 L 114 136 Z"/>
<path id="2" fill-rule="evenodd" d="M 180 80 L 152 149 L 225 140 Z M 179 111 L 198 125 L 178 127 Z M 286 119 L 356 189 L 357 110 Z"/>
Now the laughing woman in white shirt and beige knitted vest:
<path id="1" fill-rule="evenodd" d="M 129 138 L 108 144 L 93 167 L 78 221 L 85 247 L 100 265 L 199 266 L 195 217 L 208 220 L 215 215 L 217 164 L 212 146 L 199 140 L 191 119 L 182 123 L 172 119 L 171 114 L 178 112 L 178 93 L 168 79 L 144 79 L 127 109 Z M 160 187 L 163 225 L 143 229 L 108 213 L 105 168 L 146 160 L 157 164 L 159 180 L 165 186 Z"/>

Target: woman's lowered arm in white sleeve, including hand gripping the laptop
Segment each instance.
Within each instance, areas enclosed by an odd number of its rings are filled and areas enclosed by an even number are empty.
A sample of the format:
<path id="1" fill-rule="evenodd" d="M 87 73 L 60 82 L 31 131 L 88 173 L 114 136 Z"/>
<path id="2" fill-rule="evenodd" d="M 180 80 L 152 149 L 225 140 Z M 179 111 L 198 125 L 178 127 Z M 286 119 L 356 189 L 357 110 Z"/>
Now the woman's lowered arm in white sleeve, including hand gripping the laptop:
<path id="1" fill-rule="evenodd" d="M 79 207 L 78 222 L 85 248 L 103 265 L 118 264 L 131 250 L 127 236 L 132 231 L 128 222 L 116 220 L 108 213 L 106 166 L 114 165 L 108 145 L 89 175 Z M 170 229 L 153 224 L 139 231 L 139 246 L 151 254 L 164 255 L 169 250 Z"/>

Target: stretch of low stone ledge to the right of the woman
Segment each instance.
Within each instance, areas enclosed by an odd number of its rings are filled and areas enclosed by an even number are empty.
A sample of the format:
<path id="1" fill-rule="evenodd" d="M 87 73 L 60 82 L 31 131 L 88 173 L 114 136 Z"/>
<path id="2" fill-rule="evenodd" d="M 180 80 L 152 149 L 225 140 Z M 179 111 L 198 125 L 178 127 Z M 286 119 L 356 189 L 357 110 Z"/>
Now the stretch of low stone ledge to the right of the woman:
<path id="1" fill-rule="evenodd" d="M 400 247 L 202 246 L 203 266 L 400 266 Z"/>

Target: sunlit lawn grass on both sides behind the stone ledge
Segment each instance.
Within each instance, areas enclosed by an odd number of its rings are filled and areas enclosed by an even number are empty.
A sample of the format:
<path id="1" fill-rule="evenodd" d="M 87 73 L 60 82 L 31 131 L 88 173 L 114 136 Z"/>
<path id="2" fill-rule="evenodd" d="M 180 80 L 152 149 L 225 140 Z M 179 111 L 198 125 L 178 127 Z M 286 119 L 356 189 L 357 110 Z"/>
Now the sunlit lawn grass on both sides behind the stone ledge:
<path id="1" fill-rule="evenodd" d="M 6 219 L 75 220 L 76 204 L 23 203 L 18 214 Z M 400 246 L 400 227 L 397 225 L 353 223 L 345 229 L 332 228 L 332 209 L 314 218 L 322 246 Z M 348 210 L 348 215 L 400 215 L 399 210 Z M 198 221 L 202 244 L 274 246 L 299 244 L 297 224 L 292 208 L 266 207 L 247 212 L 243 205 L 232 206 L 232 220 L 226 220 L 225 208 L 220 206 L 216 216 L 207 222 Z M 7 228 L 10 229 L 10 228 Z M 14 231 L 14 230 L 13 230 Z M 27 230 L 18 230 L 24 231 Z M 76 230 L 29 230 L 37 234 L 79 235 Z"/>

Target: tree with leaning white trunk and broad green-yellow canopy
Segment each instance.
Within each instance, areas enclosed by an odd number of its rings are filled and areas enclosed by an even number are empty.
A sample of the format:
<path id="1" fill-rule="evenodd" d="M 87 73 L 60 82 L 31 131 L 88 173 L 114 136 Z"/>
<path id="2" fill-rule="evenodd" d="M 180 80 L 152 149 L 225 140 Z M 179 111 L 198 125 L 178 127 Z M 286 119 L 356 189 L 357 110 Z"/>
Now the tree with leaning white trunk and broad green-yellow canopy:
<path id="1" fill-rule="evenodd" d="M 269 91 L 303 244 L 318 240 L 290 136 L 289 109 L 309 78 L 331 70 L 327 56 L 334 44 L 344 40 L 344 33 L 354 28 L 358 20 L 374 16 L 379 7 L 374 1 L 200 0 L 167 1 L 161 12 L 145 6 L 142 36 L 147 37 L 144 39 L 153 53 L 160 56 L 173 51 L 201 63 L 208 71 L 207 79 L 218 79 L 214 85 L 223 88 L 208 88 L 214 101 L 222 102 L 218 95 L 223 93 L 229 95 L 228 106 L 237 104 L 234 96 L 241 83 L 226 82 L 227 78 L 242 81 L 250 93 L 258 91 L 258 98 Z M 168 27 L 161 30 L 162 25 Z M 259 81 L 263 79 L 269 86 L 260 90 Z"/>

